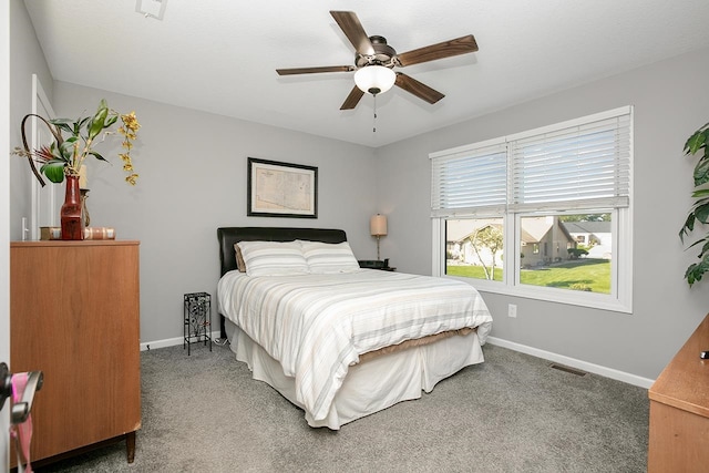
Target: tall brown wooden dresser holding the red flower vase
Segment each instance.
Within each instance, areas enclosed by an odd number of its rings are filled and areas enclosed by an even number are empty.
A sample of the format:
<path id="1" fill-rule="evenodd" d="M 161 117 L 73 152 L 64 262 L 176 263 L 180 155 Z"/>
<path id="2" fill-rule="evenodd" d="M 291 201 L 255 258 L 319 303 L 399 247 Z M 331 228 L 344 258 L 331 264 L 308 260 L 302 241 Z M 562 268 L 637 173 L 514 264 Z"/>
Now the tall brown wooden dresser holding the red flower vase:
<path id="1" fill-rule="evenodd" d="M 10 367 L 44 374 L 32 407 L 33 464 L 123 439 L 133 461 L 141 428 L 138 245 L 10 244 Z M 14 466 L 14 451 L 10 457 Z"/>

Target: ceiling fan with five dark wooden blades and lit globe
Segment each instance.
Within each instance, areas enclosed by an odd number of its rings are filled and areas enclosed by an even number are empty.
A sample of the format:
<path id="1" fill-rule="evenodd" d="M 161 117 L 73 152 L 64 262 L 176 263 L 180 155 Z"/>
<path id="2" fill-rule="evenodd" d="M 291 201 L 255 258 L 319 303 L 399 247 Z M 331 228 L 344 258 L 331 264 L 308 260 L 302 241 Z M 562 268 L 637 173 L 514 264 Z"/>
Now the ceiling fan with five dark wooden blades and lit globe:
<path id="1" fill-rule="evenodd" d="M 387 92 L 393 85 L 398 85 L 431 104 L 436 103 L 445 95 L 402 72 L 394 72 L 393 68 L 403 68 L 477 51 L 475 38 L 469 34 L 398 54 L 392 47 L 387 44 L 384 37 L 368 37 L 354 12 L 330 11 L 330 14 L 354 47 L 354 65 L 277 69 L 276 72 L 278 75 L 295 75 L 354 71 L 356 85 L 340 110 L 354 109 L 364 92 L 377 95 Z"/>

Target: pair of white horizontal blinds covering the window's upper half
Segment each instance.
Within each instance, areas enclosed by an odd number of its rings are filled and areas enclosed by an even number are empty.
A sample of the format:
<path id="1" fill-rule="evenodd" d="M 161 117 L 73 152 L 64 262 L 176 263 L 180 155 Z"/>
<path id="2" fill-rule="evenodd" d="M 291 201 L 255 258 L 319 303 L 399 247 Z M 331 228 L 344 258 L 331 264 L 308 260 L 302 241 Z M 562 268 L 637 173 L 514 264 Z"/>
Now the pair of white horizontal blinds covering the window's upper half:
<path id="1" fill-rule="evenodd" d="M 627 207 L 631 138 L 626 106 L 431 154 L 432 215 Z"/>

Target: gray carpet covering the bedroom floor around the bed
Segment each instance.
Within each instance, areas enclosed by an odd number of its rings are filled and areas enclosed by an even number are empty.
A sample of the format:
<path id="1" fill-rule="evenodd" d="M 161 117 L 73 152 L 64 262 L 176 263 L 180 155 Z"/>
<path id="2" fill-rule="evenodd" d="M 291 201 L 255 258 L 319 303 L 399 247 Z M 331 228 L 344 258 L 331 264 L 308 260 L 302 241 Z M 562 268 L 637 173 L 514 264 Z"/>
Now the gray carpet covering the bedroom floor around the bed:
<path id="1" fill-rule="evenodd" d="M 432 393 L 343 425 L 250 379 L 227 347 L 142 353 L 135 462 L 115 444 L 40 472 L 645 472 L 647 391 L 501 347 Z"/>

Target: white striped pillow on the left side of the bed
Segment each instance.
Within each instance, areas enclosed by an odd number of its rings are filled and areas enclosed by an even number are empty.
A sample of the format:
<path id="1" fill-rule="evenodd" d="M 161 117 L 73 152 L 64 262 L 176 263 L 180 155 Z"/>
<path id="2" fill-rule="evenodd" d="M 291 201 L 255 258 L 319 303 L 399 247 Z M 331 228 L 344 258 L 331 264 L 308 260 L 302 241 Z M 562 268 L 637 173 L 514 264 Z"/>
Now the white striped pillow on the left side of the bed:
<path id="1" fill-rule="evenodd" d="M 239 241 L 247 276 L 307 275 L 308 263 L 296 241 Z"/>

